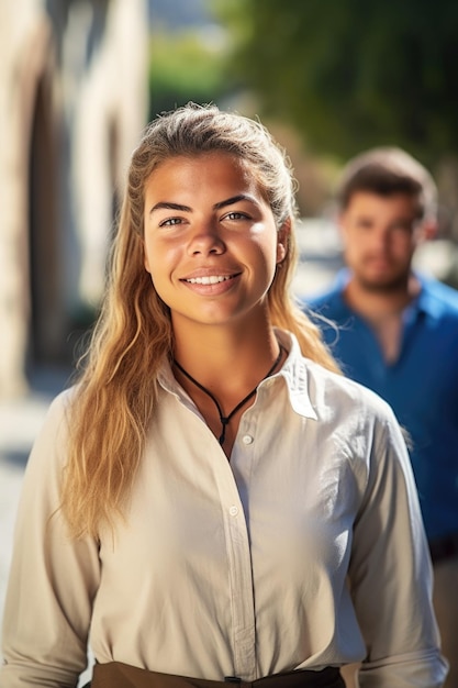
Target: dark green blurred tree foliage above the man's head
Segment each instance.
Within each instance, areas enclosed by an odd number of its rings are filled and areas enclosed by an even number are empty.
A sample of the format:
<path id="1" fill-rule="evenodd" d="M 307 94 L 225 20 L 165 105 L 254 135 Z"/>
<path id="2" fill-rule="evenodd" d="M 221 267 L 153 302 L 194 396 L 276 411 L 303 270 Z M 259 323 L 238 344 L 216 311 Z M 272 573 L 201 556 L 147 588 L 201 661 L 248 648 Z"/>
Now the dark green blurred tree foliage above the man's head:
<path id="1" fill-rule="evenodd" d="M 262 116 L 343 157 L 382 144 L 432 164 L 458 154 L 458 3 L 212 0 L 231 73 Z"/>

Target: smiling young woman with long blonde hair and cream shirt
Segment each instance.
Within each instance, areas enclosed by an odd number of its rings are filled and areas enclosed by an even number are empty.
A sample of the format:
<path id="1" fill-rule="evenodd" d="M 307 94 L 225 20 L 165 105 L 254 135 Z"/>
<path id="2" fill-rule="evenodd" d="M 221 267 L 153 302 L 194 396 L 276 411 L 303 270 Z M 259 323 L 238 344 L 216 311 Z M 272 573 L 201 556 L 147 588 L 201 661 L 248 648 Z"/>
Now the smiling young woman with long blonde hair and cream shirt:
<path id="1" fill-rule="evenodd" d="M 3 688 L 440 686 L 409 456 L 294 304 L 294 182 L 215 107 L 134 152 L 77 386 L 26 469 Z M 209 684 L 210 681 L 210 684 Z"/>

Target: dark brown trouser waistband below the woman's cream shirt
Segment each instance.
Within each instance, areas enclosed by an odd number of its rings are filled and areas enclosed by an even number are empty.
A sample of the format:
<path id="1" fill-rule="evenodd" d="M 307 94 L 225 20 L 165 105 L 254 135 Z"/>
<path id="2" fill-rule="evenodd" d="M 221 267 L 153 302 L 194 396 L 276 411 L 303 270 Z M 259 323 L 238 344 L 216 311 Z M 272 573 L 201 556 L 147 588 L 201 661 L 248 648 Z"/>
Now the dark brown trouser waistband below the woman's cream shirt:
<path id="1" fill-rule="evenodd" d="M 246 683 L 233 676 L 224 681 L 147 672 L 121 662 L 96 664 L 90 688 L 345 688 L 338 668 L 321 672 L 288 672 Z M 86 687 L 88 688 L 88 687 Z"/>

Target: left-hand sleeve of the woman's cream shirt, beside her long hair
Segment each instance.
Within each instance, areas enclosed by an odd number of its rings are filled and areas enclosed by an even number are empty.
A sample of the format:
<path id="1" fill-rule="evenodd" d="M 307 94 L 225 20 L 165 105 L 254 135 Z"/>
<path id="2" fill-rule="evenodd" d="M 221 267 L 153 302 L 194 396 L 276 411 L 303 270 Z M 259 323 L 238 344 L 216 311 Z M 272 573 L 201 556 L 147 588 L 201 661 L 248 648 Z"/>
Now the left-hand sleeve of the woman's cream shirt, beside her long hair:
<path id="1" fill-rule="evenodd" d="M 87 665 L 98 545 L 68 537 L 58 509 L 66 459 L 64 392 L 26 466 L 3 618 L 0 686 L 74 688 Z"/>

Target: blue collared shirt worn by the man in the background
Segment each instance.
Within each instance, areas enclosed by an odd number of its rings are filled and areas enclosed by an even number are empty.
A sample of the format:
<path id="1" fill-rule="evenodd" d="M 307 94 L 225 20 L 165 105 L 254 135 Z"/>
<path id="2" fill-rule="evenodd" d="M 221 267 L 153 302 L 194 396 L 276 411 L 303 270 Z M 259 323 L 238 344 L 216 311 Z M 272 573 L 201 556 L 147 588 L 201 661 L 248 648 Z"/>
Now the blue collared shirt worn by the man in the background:
<path id="1" fill-rule="evenodd" d="M 403 313 L 399 358 L 383 359 L 370 326 L 348 308 L 342 270 L 308 300 L 344 373 L 393 408 L 412 439 L 411 458 L 429 540 L 458 533 L 458 292 L 417 275 L 422 289 Z"/>

